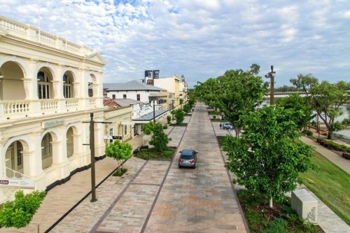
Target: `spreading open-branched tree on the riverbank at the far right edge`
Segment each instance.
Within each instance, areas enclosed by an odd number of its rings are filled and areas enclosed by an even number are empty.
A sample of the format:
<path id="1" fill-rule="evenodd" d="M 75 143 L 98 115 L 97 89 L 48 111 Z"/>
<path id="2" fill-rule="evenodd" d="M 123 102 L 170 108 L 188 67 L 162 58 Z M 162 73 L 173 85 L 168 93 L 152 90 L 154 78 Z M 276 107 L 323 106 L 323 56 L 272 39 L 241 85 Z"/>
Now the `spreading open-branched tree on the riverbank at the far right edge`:
<path id="1" fill-rule="evenodd" d="M 318 83 L 318 79 L 311 74 L 300 74 L 297 78 L 290 79 L 290 82 L 307 96 L 312 109 L 328 129 L 328 139 L 332 139 L 333 132 L 346 127 L 341 122 L 335 122 L 335 118 L 342 115 L 340 106 L 350 99 L 350 82 Z"/>

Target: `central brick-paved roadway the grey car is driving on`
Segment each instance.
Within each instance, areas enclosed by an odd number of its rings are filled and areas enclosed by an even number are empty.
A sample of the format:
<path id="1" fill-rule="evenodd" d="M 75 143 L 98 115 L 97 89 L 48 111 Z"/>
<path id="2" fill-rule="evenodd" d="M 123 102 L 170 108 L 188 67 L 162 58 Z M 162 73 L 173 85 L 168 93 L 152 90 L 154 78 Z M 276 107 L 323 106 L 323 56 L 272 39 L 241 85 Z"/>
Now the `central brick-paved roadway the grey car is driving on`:
<path id="1" fill-rule="evenodd" d="M 172 163 L 145 232 L 247 232 L 204 104 L 197 104 L 178 150 L 199 150 L 196 169 Z"/>

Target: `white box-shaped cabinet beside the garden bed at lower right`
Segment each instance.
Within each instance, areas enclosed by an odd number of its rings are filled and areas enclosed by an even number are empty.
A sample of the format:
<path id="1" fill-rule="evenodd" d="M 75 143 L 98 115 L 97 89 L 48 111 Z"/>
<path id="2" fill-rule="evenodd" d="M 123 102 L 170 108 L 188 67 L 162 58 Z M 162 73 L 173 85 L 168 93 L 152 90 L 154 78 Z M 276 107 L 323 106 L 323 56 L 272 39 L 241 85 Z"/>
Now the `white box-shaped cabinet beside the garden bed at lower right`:
<path id="1" fill-rule="evenodd" d="M 303 220 L 317 224 L 318 201 L 307 190 L 294 190 L 291 206 Z"/>

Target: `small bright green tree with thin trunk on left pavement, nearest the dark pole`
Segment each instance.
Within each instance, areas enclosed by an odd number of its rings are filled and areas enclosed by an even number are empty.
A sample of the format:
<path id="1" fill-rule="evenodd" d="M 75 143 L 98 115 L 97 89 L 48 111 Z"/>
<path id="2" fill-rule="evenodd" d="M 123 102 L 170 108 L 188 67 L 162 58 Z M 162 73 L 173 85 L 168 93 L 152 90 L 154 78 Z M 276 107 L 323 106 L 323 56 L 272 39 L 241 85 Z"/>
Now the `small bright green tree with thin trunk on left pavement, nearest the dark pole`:
<path id="1" fill-rule="evenodd" d="M 114 160 L 125 161 L 132 157 L 132 146 L 129 143 L 122 143 L 119 140 L 116 140 L 106 147 L 104 153 L 106 153 L 106 156 L 112 157 Z M 121 171 L 121 166 L 119 166 L 119 171 Z"/>

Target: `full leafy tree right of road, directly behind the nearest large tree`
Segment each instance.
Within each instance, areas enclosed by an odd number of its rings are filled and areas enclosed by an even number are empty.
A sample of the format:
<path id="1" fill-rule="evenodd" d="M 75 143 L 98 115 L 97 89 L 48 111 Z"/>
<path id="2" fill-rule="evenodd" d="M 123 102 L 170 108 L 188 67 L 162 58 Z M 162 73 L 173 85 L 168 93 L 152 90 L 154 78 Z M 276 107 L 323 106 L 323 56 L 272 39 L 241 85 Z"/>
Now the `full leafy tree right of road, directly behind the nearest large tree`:
<path id="1" fill-rule="evenodd" d="M 251 69 L 226 71 L 218 77 L 219 91 L 216 92 L 216 106 L 235 128 L 236 136 L 243 128 L 241 116 L 254 111 L 267 93 L 267 82 L 257 76 L 260 66 L 252 64 Z"/>

